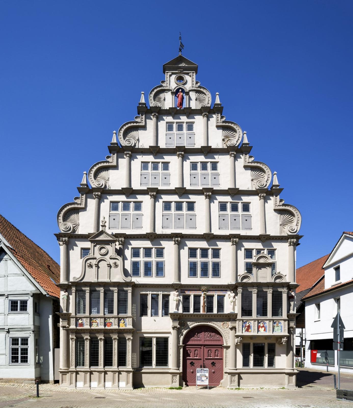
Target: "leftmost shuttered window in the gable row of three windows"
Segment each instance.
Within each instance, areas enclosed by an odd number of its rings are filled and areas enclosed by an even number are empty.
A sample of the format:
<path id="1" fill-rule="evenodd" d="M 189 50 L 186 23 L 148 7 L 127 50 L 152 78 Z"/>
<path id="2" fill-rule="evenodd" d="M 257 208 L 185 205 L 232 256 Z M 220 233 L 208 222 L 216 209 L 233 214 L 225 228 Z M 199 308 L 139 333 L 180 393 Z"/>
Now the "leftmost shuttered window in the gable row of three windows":
<path id="1" fill-rule="evenodd" d="M 141 201 L 111 201 L 109 229 L 142 229 Z"/>

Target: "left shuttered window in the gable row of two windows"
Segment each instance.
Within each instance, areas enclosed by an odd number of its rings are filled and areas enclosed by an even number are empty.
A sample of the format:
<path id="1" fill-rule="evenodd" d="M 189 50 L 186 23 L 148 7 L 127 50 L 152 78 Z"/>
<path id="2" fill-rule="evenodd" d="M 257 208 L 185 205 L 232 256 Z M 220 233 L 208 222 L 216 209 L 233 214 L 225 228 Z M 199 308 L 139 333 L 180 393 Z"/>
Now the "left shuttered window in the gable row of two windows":
<path id="1" fill-rule="evenodd" d="M 170 162 L 142 162 L 141 186 L 170 186 Z"/>

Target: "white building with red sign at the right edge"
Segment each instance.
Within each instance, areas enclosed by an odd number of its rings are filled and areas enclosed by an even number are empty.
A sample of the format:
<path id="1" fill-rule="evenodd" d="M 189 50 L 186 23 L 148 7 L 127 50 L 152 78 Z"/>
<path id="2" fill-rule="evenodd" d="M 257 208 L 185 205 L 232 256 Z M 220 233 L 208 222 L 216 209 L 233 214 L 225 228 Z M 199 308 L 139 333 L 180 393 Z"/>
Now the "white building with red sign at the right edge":
<path id="1" fill-rule="evenodd" d="M 353 373 L 353 233 L 344 232 L 324 266 L 324 274 L 305 301 L 305 367 L 338 370 L 337 351 L 333 351 L 333 318 L 340 311 L 345 326 L 344 346 L 340 351 L 342 371 Z"/>

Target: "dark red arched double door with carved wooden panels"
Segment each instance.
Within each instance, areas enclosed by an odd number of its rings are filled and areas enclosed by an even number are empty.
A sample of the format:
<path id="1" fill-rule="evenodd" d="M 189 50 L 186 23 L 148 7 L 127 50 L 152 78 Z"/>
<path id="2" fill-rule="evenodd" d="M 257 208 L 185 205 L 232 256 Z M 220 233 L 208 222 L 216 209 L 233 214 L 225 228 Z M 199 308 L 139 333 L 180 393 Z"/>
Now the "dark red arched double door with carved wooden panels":
<path id="1" fill-rule="evenodd" d="M 223 337 L 211 326 L 196 326 L 183 341 L 183 380 L 196 385 L 196 368 L 208 368 L 209 385 L 218 386 L 223 379 Z"/>

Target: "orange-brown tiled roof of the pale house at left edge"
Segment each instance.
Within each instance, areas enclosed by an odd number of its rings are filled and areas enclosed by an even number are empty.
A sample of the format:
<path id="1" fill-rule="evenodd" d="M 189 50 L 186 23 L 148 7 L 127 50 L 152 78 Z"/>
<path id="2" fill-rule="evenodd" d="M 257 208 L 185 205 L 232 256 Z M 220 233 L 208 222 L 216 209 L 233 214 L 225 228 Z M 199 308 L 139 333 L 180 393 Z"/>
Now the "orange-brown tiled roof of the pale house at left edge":
<path id="1" fill-rule="evenodd" d="M 60 266 L 45 251 L 31 239 L 13 226 L 0 214 L 0 234 L 12 248 L 9 250 L 22 266 L 51 296 L 60 297 L 60 288 L 55 282 L 60 282 Z"/>

